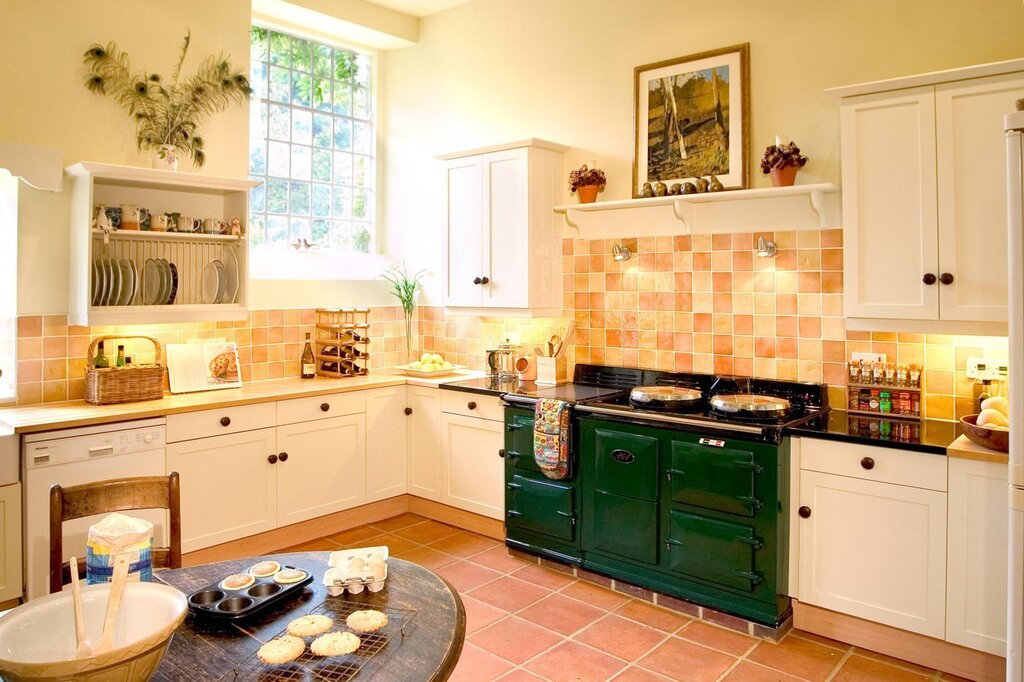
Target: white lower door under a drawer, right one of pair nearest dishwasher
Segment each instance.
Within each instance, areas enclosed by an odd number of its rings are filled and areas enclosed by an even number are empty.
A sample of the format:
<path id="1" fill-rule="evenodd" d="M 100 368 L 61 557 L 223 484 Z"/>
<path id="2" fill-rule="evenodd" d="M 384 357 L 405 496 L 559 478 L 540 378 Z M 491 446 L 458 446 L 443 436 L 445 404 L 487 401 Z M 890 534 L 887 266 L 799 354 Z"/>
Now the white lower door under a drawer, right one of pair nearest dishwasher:
<path id="1" fill-rule="evenodd" d="M 367 502 L 366 416 L 278 427 L 278 525 Z"/>

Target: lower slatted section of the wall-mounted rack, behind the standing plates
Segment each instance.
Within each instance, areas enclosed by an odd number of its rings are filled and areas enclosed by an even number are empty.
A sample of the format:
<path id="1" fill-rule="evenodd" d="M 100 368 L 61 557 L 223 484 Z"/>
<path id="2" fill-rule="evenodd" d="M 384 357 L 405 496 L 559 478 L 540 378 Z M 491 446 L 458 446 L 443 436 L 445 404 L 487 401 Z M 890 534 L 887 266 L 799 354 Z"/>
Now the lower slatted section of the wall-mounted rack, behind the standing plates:
<path id="1" fill-rule="evenodd" d="M 214 261 L 219 260 L 225 265 L 233 256 L 241 269 L 242 250 L 245 242 L 238 237 L 221 235 L 194 235 L 190 232 L 150 232 L 134 230 L 114 230 L 108 243 L 103 244 L 102 232 L 93 230 L 93 260 L 130 260 L 134 263 L 139 279 L 137 293 L 127 306 L 93 306 L 99 309 L 121 307 L 130 308 L 143 305 L 144 271 L 147 260 L 166 260 L 177 268 L 177 294 L 170 305 L 212 305 L 203 297 L 203 270 Z M 228 251 L 231 252 L 228 255 Z M 90 278 L 93 276 L 90 268 Z M 239 276 L 242 272 L 239 271 Z M 90 280 L 90 293 L 93 283 Z M 233 299 L 223 300 L 219 305 L 228 305 L 238 300 L 238 289 Z M 162 303 L 161 305 L 168 305 Z"/>

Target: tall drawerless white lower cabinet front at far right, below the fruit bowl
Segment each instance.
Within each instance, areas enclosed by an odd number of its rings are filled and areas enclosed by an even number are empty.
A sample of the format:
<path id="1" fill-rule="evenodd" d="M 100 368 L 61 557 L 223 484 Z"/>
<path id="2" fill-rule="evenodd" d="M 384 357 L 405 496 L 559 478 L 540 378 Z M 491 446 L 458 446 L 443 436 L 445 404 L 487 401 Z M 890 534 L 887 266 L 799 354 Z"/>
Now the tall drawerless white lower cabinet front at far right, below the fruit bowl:
<path id="1" fill-rule="evenodd" d="M 1006 655 L 1007 465 L 949 458 L 946 640 Z"/>

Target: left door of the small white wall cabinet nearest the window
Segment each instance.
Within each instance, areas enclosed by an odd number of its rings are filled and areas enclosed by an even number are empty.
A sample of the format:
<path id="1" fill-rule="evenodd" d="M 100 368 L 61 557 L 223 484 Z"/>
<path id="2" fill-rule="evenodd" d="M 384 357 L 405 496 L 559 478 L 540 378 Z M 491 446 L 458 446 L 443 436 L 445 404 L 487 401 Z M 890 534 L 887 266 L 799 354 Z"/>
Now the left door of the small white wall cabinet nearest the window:
<path id="1" fill-rule="evenodd" d="M 480 157 L 447 162 L 444 304 L 478 306 L 483 288 L 483 176 Z"/>

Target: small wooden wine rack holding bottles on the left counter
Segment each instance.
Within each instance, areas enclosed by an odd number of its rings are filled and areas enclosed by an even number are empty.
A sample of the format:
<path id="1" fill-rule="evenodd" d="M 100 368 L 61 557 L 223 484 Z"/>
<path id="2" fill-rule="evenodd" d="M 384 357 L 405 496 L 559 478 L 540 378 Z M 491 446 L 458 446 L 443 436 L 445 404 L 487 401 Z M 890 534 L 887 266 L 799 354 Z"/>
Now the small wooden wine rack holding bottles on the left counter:
<path id="1" fill-rule="evenodd" d="M 316 374 L 341 379 L 370 373 L 370 308 L 316 308 Z"/>

